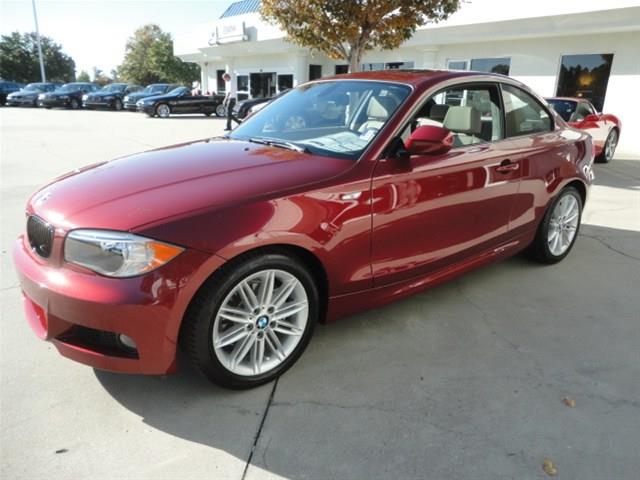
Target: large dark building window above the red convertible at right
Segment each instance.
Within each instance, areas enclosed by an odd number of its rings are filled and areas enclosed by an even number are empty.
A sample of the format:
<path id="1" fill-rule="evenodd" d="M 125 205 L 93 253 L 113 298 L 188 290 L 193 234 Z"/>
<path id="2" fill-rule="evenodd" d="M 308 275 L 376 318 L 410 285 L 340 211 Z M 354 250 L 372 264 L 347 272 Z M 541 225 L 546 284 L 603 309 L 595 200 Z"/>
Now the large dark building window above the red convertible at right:
<path id="1" fill-rule="evenodd" d="M 612 53 L 563 55 L 556 95 L 589 99 L 601 112 L 612 63 Z"/>

